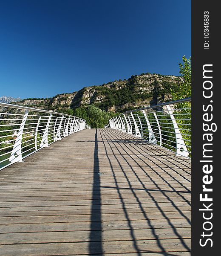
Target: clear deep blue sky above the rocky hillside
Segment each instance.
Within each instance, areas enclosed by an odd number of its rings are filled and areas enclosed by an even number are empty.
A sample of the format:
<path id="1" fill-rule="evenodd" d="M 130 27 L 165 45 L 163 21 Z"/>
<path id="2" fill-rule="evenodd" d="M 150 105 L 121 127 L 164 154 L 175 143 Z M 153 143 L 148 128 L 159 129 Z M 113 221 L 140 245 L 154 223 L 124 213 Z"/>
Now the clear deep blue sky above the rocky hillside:
<path id="1" fill-rule="evenodd" d="M 191 55 L 190 0 L 0 1 L 0 96 L 179 75 L 183 55 Z"/>

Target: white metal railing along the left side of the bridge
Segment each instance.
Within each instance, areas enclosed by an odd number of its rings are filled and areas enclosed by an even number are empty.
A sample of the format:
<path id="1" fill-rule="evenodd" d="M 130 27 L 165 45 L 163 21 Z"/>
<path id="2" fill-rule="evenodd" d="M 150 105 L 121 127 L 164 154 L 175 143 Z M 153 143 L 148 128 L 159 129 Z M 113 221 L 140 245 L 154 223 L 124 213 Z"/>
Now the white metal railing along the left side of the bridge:
<path id="1" fill-rule="evenodd" d="M 0 170 L 51 143 L 83 129 L 85 119 L 0 103 Z"/>

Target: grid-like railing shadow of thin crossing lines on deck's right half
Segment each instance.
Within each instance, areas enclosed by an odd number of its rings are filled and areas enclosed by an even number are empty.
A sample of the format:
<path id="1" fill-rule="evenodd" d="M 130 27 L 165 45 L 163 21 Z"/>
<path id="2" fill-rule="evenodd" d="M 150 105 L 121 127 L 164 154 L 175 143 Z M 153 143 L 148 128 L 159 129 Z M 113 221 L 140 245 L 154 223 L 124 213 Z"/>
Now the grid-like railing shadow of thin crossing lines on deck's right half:
<path id="1" fill-rule="evenodd" d="M 111 172 L 112 172 L 114 182 L 115 182 L 115 186 L 112 188 L 115 188 L 119 195 L 119 198 L 120 198 L 120 201 L 122 204 L 122 208 L 123 208 L 123 212 L 125 214 L 125 218 L 127 220 L 128 226 L 130 227 L 130 236 L 131 236 L 131 240 L 133 240 L 133 247 L 135 248 L 137 255 L 141 255 L 141 253 L 144 252 L 144 250 L 140 250 L 139 246 L 137 244 L 135 232 L 133 230 L 133 225 L 129 218 L 125 200 L 124 200 L 122 192 L 121 192 L 122 189 L 129 189 L 130 192 L 133 194 L 133 198 L 136 200 L 136 203 L 138 204 L 139 209 L 141 210 L 144 219 L 147 221 L 147 226 L 148 226 L 148 228 L 150 228 L 152 235 L 153 235 L 154 239 L 156 240 L 156 243 L 157 243 L 161 253 L 163 255 L 169 255 L 169 253 L 166 253 L 166 249 L 164 248 L 164 245 L 163 245 L 161 239 L 159 239 L 156 229 L 154 228 L 153 221 L 149 218 L 147 209 L 145 209 L 143 207 L 142 198 L 139 198 L 139 195 L 136 192 L 139 189 L 137 189 L 137 188 L 134 189 L 131 184 L 130 177 L 128 176 L 128 172 L 125 171 L 125 164 L 126 164 L 127 168 L 130 169 L 130 171 L 129 171 L 130 174 L 133 174 L 133 176 L 136 178 L 136 182 L 138 182 L 140 184 L 140 186 L 142 187 L 142 190 L 144 191 L 144 193 L 146 193 L 148 195 L 148 197 L 152 200 L 152 202 L 155 204 L 156 209 L 158 209 L 158 212 L 161 213 L 162 218 L 164 218 L 167 221 L 168 227 L 170 227 L 173 230 L 173 233 L 176 236 L 176 238 L 180 240 L 180 242 L 183 245 L 183 247 L 185 248 L 185 250 L 190 251 L 190 247 L 186 244 L 183 237 L 179 234 L 177 228 L 174 226 L 174 224 L 172 223 L 170 218 L 167 216 L 167 212 L 164 212 L 164 210 L 162 209 L 161 204 L 158 201 L 158 198 L 155 198 L 155 195 L 152 193 L 155 191 L 160 192 L 162 197 L 165 198 L 167 200 L 167 202 L 170 203 L 171 207 L 174 207 L 174 212 L 178 212 L 178 214 L 181 215 L 181 218 L 185 218 L 187 220 L 187 222 L 189 224 L 191 224 L 190 219 L 173 202 L 173 199 L 170 198 L 170 195 L 168 195 L 168 191 L 172 192 L 172 193 L 170 193 L 172 195 L 175 193 L 178 197 L 181 198 L 182 201 L 184 201 L 186 204 L 188 204 L 190 206 L 189 200 L 186 199 L 184 197 L 184 195 L 182 194 L 182 193 L 190 194 L 190 189 L 188 189 L 187 186 L 185 186 L 180 180 L 178 180 L 178 178 L 174 177 L 173 174 L 171 174 L 170 172 L 168 172 L 167 170 L 162 168 L 160 164 L 156 164 L 156 162 L 159 161 L 161 164 L 164 165 L 164 167 L 170 168 L 170 166 L 168 164 L 163 163 L 159 159 L 160 157 L 154 157 L 154 154 L 151 154 L 151 157 L 150 157 L 150 154 L 148 156 L 148 154 L 146 154 L 145 151 L 144 151 L 144 154 L 142 154 L 144 148 L 140 148 L 140 146 L 142 146 L 142 144 L 147 145 L 147 142 L 144 143 L 144 141 L 136 140 L 135 138 L 132 138 L 130 140 L 130 138 L 128 138 L 127 135 L 125 136 L 126 137 L 125 140 L 124 139 L 121 140 L 121 139 L 119 139 L 119 131 L 115 131 L 115 130 L 110 131 L 109 129 L 102 129 L 102 130 L 100 130 L 100 133 L 101 133 L 101 139 L 103 141 L 103 146 L 105 148 L 105 154 L 106 154 L 109 164 L 111 166 Z M 116 137 L 116 139 L 115 139 L 115 137 Z M 135 145 L 136 145 L 136 147 L 135 147 Z M 108 152 L 108 150 L 111 151 L 111 155 Z M 134 151 L 139 151 L 139 155 L 135 155 Z M 130 154 L 129 154 L 129 152 L 130 152 Z M 151 153 L 153 153 L 153 152 L 151 152 Z M 165 156 L 165 151 L 163 151 L 162 154 Z M 119 186 L 119 182 L 117 180 L 116 173 L 115 173 L 116 166 L 113 166 L 113 164 L 112 164 L 113 157 L 118 164 L 117 169 L 121 170 L 123 177 L 126 180 L 126 183 L 128 185 L 126 188 L 124 188 L 124 187 L 122 188 L 121 186 Z M 146 160 L 144 161 L 143 158 Z M 138 160 L 139 160 L 139 162 L 138 162 Z M 133 164 L 131 164 L 131 161 L 133 162 Z M 149 163 L 151 163 L 151 164 L 149 164 Z M 179 191 L 178 189 L 176 189 L 176 187 L 173 187 L 173 185 L 171 185 L 170 182 L 167 181 L 167 179 L 164 177 L 164 175 L 161 175 L 159 172 L 157 172 L 153 168 L 153 165 L 155 165 L 158 169 L 160 169 L 161 173 L 163 173 L 165 176 L 170 177 L 170 179 L 173 180 L 176 185 L 182 187 L 184 189 L 184 191 Z M 148 167 L 148 169 L 150 169 L 154 173 L 155 178 L 151 177 L 151 175 L 147 172 L 147 168 L 145 166 Z M 142 180 L 142 178 L 139 177 L 139 175 L 137 175 L 136 167 L 139 167 L 139 170 L 141 170 L 143 172 L 143 175 L 145 175 L 147 177 L 147 180 L 150 180 L 152 182 L 152 184 L 154 186 L 156 186 L 156 189 L 148 189 L 148 186 L 144 183 L 144 180 Z M 178 173 L 175 169 L 172 168 L 171 171 L 173 173 L 175 173 L 176 175 L 180 175 L 180 177 L 183 180 L 185 180 L 186 182 L 190 182 L 190 180 L 188 180 L 184 175 Z M 170 188 L 170 190 L 161 189 L 161 185 L 159 184 L 159 181 L 155 180 L 156 177 L 158 180 L 161 180 L 163 183 L 165 183 Z M 108 187 L 108 186 L 106 186 L 106 187 Z M 105 186 L 102 186 L 102 188 L 105 188 Z M 145 250 L 145 251 L 147 252 L 148 250 Z"/>

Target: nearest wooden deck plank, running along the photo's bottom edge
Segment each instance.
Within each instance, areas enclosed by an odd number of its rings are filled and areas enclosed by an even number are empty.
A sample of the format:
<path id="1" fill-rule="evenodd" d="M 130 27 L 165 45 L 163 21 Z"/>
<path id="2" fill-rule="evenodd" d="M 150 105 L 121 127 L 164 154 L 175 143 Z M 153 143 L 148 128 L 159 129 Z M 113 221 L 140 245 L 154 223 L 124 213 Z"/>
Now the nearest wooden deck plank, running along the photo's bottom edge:
<path id="1" fill-rule="evenodd" d="M 102 242 L 80 242 L 80 243 L 50 243 L 50 244 L 16 244 L 0 247 L 0 253 L 4 256 L 51 256 L 51 255 L 69 255 L 69 254 L 94 254 L 94 253 L 137 253 L 142 252 L 174 252 L 178 249 L 189 251 L 191 247 L 190 239 L 161 239 L 159 246 L 156 240 L 136 240 L 134 241 L 105 241 Z M 185 244 L 185 246 L 184 246 Z M 161 249 L 161 247 L 163 249 Z M 89 248 L 89 249 L 88 249 Z M 139 248 L 139 249 L 138 249 Z"/>

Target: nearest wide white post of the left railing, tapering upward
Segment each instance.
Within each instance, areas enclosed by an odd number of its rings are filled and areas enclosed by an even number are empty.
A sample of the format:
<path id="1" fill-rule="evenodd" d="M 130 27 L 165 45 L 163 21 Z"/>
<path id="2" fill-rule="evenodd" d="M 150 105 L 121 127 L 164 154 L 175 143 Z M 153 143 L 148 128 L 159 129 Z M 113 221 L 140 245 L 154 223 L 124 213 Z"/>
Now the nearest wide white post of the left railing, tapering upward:
<path id="1" fill-rule="evenodd" d="M 22 162 L 22 134 L 23 134 L 24 126 L 26 124 L 27 117 L 28 117 L 28 110 L 26 110 L 23 116 L 20 128 L 18 130 L 17 137 L 14 142 L 14 146 L 9 158 L 10 163 Z"/>

